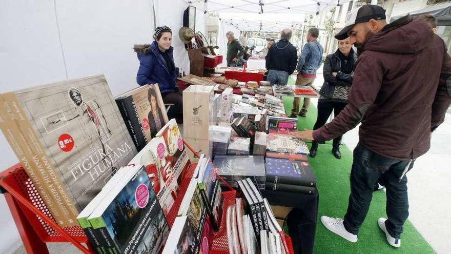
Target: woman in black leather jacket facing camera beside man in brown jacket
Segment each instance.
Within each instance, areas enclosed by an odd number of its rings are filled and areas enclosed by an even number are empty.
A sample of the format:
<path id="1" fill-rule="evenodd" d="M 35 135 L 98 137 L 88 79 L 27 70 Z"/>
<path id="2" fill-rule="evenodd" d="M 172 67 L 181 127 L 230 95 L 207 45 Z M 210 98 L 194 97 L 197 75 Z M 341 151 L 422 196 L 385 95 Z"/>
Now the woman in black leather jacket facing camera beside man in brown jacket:
<path id="1" fill-rule="evenodd" d="M 326 123 L 332 111 L 337 116 L 347 104 L 347 96 L 351 90 L 357 61 L 357 56 L 351 46 L 349 38 L 338 41 L 337 51 L 326 57 L 323 67 L 324 84 L 319 91 L 318 116 L 313 127 L 314 130 Z M 332 153 L 337 159 L 341 159 L 339 149 L 341 137 L 334 139 L 332 145 Z M 316 156 L 317 149 L 318 143 L 312 141 L 310 157 Z"/>

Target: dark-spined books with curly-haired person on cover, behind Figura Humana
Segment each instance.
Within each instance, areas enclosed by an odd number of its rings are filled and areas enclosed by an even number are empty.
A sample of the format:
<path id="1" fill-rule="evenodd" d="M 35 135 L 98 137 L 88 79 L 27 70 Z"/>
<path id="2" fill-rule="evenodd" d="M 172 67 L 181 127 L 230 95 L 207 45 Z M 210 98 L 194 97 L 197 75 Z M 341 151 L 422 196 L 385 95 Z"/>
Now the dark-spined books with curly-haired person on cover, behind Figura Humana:
<path id="1" fill-rule="evenodd" d="M 138 151 L 169 121 L 158 84 L 138 87 L 115 100 Z"/>

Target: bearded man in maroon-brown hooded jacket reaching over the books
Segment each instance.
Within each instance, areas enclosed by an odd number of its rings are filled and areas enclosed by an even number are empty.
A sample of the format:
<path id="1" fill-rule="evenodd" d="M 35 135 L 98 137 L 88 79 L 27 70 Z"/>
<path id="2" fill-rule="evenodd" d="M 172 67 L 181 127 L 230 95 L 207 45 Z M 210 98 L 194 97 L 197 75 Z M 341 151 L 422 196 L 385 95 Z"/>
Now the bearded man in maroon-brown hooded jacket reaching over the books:
<path id="1" fill-rule="evenodd" d="M 451 58 L 422 19 L 404 16 L 387 25 L 385 10 L 364 5 L 335 37 L 349 36 L 360 53 L 349 104 L 329 124 L 298 134 L 324 142 L 362 123 L 354 149 L 351 194 L 344 220 L 321 217 L 324 226 L 351 242 L 370 207 L 378 179 L 386 187 L 388 219 L 378 225 L 388 244 L 401 246 L 408 217 L 407 177 L 430 146 L 430 133 L 451 103 Z"/>

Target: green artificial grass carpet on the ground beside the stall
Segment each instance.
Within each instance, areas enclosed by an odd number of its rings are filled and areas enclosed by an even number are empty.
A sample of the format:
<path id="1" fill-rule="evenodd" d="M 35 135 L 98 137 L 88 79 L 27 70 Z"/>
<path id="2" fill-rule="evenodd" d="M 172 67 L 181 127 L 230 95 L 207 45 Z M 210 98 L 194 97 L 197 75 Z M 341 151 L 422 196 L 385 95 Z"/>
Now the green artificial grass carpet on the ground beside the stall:
<path id="1" fill-rule="evenodd" d="M 291 78 L 291 77 L 290 77 Z M 293 79 L 289 84 L 293 84 Z M 293 108 L 293 98 L 284 97 L 286 112 Z M 302 105 L 302 100 L 301 100 Z M 306 118 L 298 117 L 298 130 L 313 129 L 316 121 L 316 108 L 311 105 Z M 310 148 L 310 144 L 309 144 Z M 315 237 L 315 253 L 434 253 L 433 248 L 426 242 L 412 223 L 407 221 L 401 236 L 401 247 L 394 248 L 386 242 L 385 234 L 379 229 L 377 220 L 386 217 L 385 192 L 374 192 L 370 210 L 359 229 L 359 240 L 351 243 L 327 230 L 321 223 L 320 217 L 343 218 L 350 194 L 350 172 L 353 161 L 352 151 L 345 145 L 340 146 L 341 160 L 332 154 L 332 143 L 319 145 L 315 158 L 309 157 L 309 162 L 317 177 L 319 193 L 318 222 Z"/>

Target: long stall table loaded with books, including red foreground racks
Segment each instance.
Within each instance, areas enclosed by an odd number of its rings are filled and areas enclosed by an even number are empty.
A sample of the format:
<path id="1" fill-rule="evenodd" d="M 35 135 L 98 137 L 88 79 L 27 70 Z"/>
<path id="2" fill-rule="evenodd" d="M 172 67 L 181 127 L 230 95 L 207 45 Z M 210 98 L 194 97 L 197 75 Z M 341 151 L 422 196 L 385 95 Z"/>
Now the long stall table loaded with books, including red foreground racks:
<path id="1" fill-rule="evenodd" d="M 0 94 L 30 178 L 11 192 L 35 225 L 19 231 L 83 230 L 61 238 L 84 253 L 312 252 L 318 193 L 297 119 L 271 94 L 191 85 L 183 97 L 182 134 L 157 85 L 113 97 L 96 75 Z"/>

